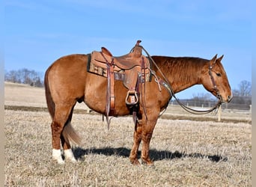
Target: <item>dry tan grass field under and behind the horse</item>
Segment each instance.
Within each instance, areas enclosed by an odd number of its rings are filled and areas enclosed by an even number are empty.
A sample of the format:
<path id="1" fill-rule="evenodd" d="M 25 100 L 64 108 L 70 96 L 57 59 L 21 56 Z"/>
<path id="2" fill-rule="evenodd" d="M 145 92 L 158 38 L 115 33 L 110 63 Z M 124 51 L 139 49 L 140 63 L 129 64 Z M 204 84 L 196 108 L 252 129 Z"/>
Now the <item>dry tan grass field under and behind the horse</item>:
<path id="1" fill-rule="evenodd" d="M 43 88 L 8 83 L 4 93 L 5 186 L 252 186 L 249 114 L 223 112 L 223 121 L 216 122 L 216 116 L 176 109 L 171 118 L 169 109 L 156 124 L 150 144 L 154 166 L 147 167 L 129 163 L 131 117 L 113 118 L 108 130 L 101 115 L 78 105 L 72 121 L 82 137 L 73 146 L 78 162 L 58 165 L 51 160 Z"/>

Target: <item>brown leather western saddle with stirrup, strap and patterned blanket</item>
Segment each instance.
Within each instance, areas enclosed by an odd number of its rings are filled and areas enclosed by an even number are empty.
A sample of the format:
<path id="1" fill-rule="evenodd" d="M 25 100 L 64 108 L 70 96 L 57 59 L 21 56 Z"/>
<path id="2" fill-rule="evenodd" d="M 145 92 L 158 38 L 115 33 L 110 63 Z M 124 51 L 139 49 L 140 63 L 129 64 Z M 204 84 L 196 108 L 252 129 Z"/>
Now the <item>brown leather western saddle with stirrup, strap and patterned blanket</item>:
<path id="1" fill-rule="evenodd" d="M 115 93 L 114 80 L 123 81 L 128 89 L 126 104 L 134 106 L 138 104 L 138 85 L 142 82 L 150 82 L 150 61 L 142 55 L 142 46 L 138 40 L 131 52 L 127 55 L 115 57 L 105 47 L 101 52 L 91 52 L 91 61 L 88 63 L 88 72 L 104 76 L 108 79 L 106 116 L 114 115 Z"/>

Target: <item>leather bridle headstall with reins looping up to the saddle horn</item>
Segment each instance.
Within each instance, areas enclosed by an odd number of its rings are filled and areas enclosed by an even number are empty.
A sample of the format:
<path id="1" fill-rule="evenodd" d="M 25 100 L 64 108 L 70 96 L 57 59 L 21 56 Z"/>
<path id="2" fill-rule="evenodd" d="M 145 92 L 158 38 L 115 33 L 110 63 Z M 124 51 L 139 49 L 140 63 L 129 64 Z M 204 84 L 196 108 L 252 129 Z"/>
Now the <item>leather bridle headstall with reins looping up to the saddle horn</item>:
<path id="1" fill-rule="evenodd" d="M 218 102 L 216 103 L 216 105 L 214 105 L 212 108 L 208 109 L 208 110 L 195 110 L 193 108 L 189 108 L 187 107 L 186 105 L 184 105 L 182 102 L 180 102 L 180 99 L 177 98 L 177 96 L 175 95 L 173 89 L 171 88 L 171 85 L 169 84 L 168 82 L 168 79 L 166 78 L 166 76 L 162 73 L 162 71 L 159 69 L 159 67 L 156 65 L 156 62 L 153 61 L 153 58 L 151 58 L 151 56 L 149 55 L 149 53 L 144 49 L 143 46 L 141 46 L 141 48 L 144 50 L 144 52 L 147 54 L 147 57 L 150 58 L 150 61 L 153 62 L 153 64 L 155 65 L 155 67 L 157 68 L 157 70 L 159 70 L 159 73 L 161 74 L 161 76 L 163 77 L 164 80 L 162 79 L 159 79 L 157 76 L 156 76 L 156 73 L 150 69 L 150 72 L 153 74 L 153 76 L 156 78 L 155 81 L 162 85 L 164 88 L 167 89 L 167 91 L 170 93 L 170 96 L 173 96 L 174 99 L 177 101 L 177 103 L 185 110 L 185 111 L 188 111 L 189 113 L 191 114 L 209 114 L 210 112 L 212 111 L 218 111 L 219 109 L 219 106 L 222 105 L 222 100 L 221 100 L 221 96 L 219 94 L 219 89 L 217 88 L 216 86 L 216 82 L 215 80 L 213 79 L 213 74 L 212 74 L 212 69 L 213 69 L 213 66 L 209 66 L 209 75 L 210 75 L 210 79 L 212 80 L 212 83 L 213 83 L 213 88 L 216 90 L 217 92 L 217 99 Z M 132 48 L 133 49 L 133 48 Z M 215 63 L 214 63 L 215 64 Z M 161 89 L 159 89 L 159 91 L 161 91 Z M 171 98 L 170 98 L 171 99 Z M 166 105 L 167 107 L 167 105 Z M 161 116 L 162 114 L 160 114 Z"/>

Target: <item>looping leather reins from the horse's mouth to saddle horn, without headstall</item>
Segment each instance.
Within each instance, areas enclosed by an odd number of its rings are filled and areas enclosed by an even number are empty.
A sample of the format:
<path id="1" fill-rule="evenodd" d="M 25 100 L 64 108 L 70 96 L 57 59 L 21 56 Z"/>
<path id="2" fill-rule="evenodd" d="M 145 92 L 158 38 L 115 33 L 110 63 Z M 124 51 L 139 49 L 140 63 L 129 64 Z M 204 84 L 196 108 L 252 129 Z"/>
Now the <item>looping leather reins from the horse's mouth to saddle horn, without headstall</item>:
<path id="1" fill-rule="evenodd" d="M 134 47 L 131 49 L 131 52 L 132 50 L 134 49 Z M 189 108 L 188 106 L 184 105 L 182 102 L 180 102 L 180 99 L 177 98 L 177 96 L 175 96 L 175 93 L 174 91 L 172 90 L 171 88 L 171 85 L 169 84 L 168 82 L 168 79 L 165 77 L 165 75 L 162 73 L 162 71 L 159 69 L 159 67 L 156 65 L 156 62 L 153 61 L 153 58 L 150 56 L 150 54 L 147 52 L 146 49 L 144 49 L 143 46 L 141 46 L 141 49 L 144 50 L 144 52 L 147 54 L 147 57 L 150 58 L 150 61 L 153 62 L 153 64 L 155 65 L 156 69 L 159 70 L 159 73 L 161 74 L 161 76 L 163 77 L 163 81 L 162 81 L 162 85 L 169 91 L 170 95 L 174 97 L 174 99 L 177 101 L 177 103 L 185 110 L 185 111 L 188 111 L 189 113 L 192 113 L 192 114 L 209 114 L 210 112 L 212 111 L 216 111 L 215 113 L 217 113 L 217 111 L 219 110 L 219 106 L 222 105 L 222 101 L 221 99 L 219 99 L 219 101 L 216 103 L 216 105 L 214 105 L 212 108 L 208 109 L 208 110 L 195 110 L 193 108 Z M 159 84 L 160 83 L 160 79 L 156 76 L 156 73 L 151 70 L 149 68 L 150 72 L 152 73 L 153 76 L 155 76 L 156 78 L 156 82 Z M 160 83 L 161 84 L 161 83 Z M 171 98 L 170 98 L 171 99 Z M 166 105 L 167 107 L 167 105 Z M 162 112 L 162 114 L 165 112 L 165 110 Z M 161 116 L 162 114 L 160 114 L 159 116 Z"/>

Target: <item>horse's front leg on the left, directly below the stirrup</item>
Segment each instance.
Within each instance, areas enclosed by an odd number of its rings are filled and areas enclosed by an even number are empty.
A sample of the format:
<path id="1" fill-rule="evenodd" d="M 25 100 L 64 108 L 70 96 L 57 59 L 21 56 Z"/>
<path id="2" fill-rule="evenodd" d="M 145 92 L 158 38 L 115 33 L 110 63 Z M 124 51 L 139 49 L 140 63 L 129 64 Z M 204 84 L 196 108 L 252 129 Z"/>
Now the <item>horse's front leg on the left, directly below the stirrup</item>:
<path id="1" fill-rule="evenodd" d="M 133 165 L 140 165 L 138 162 L 138 147 L 141 143 L 141 132 L 142 132 L 142 124 L 137 123 L 135 124 L 135 130 L 133 133 L 133 146 L 132 150 L 129 154 L 129 160 Z"/>

